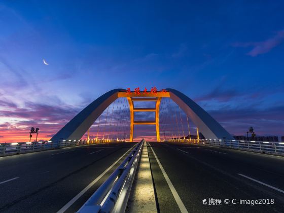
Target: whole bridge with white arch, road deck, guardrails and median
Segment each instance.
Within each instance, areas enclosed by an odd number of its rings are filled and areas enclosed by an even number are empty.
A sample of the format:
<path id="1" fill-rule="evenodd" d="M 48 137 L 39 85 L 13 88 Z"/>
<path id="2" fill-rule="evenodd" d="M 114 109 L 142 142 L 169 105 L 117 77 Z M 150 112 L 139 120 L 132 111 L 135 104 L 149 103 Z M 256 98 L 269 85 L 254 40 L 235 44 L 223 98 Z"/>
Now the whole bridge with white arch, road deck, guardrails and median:
<path id="1" fill-rule="evenodd" d="M 0 156 L 0 212 L 282 212 L 284 206 L 284 143 L 235 140 L 169 88 L 111 90 L 50 140 L 1 144 Z"/>

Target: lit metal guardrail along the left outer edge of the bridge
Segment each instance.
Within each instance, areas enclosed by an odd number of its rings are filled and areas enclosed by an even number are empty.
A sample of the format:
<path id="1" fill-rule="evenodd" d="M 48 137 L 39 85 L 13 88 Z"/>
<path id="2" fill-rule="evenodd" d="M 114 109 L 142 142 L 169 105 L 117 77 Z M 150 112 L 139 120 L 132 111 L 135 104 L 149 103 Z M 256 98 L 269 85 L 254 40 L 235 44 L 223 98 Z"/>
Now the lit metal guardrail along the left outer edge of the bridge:
<path id="1" fill-rule="evenodd" d="M 42 150 L 59 149 L 62 147 L 85 146 L 90 144 L 124 142 L 125 140 L 115 139 L 91 139 L 91 140 L 48 140 L 38 142 L 19 142 L 0 144 L 0 156 L 16 155 L 28 152 L 37 152 Z"/>

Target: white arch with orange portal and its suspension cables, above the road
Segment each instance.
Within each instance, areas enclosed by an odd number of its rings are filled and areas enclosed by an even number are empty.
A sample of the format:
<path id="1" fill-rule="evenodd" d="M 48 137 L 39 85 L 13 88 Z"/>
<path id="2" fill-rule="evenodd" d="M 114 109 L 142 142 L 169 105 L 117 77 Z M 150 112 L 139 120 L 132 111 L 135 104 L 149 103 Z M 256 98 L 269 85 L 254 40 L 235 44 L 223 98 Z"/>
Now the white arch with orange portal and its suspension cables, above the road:
<path id="1" fill-rule="evenodd" d="M 162 141 L 160 136 L 160 129 L 161 129 L 161 101 L 163 99 L 169 99 L 173 102 L 175 102 L 179 109 L 183 111 L 183 113 L 186 115 L 186 118 L 190 119 L 193 124 L 197 127 L 197 131 L 199 130 L 200 133 L 205 138 L 210 139 L 234 139 L 230 133 L 228 133 L 227 130 L 225 130 L 220 123 L 218 123 L 214 118 L 212 118 L 205 110 L 203 110 L 196 102 L 194 102 L 192 99 L 187 97 L 185 94 L 183 94 L 180 91 L 177 91 L 175 89 L 165 89 L 162 91 L 158 91 L 156 93 L 143 93 L 141 92 L 139 95 L 137 95 L 135 92 L 127 92 L 124 89 L 113 89 L 100 97 L 98 97 L 96 100 L 91 102 L 85 109 L 83 109 L 78 115 L 76 115 L 72 120 L 70 120 L 62 129 L 60 129 L 52 138 L 51 140 L 70 140 L 70 139 L 80 139 L 84 136 L 86 132 L 90 129 L 90 127 L 94 124 L 94 122 L 99 118 L 98 126 L 97 126 L 97 136 L 96 139 L 98 139 L 98 132 L 99 132 L 99 125 L 102 125 L 105 120 L 105 124 L 107 123 L 107 120 L 109 118 L 109 121 L 114 122 L 115 121 L 115 114 L 118 113 L 118 109 L 121 109 L 121 105 L 119 107 L 119 100 L 117 103 L 117 110 L 115 109 L 115 101 L 119 98 L 125 98 L 127 101 L 124 102 L 124 108 L 128 111 L 128 117 L 123 118 L 124 122 L 126 124 L 128 123 L 128 130 L 125 129 L 126 134 L 129 135 L 128 140 L 133 141 L 133 133 L 134 133 L 134 126 L 135 125 L 155 125 L 156 126 L 156 137 L 157 141 Z M 153 108 L 137 108 L 134 107 L 135 102 L 154 102 L 155 107 Z M 113 103 L 113 108 L 110 108 L 110 105 Z M 164 108 L 168 107 L 170 108 L 171 104 L 169 101 L 166 101 L 164 103 Z M 109 109 L 110 108 L 110 109 Z M 103 112 L 107 110 L 107 116 L 105 119 L 100 119 L 100 116 Z M 135 112 L 154 112 L 155 113 L 155 119 L 153 120 L 136 120 L 135 118 Z M 181 111 L 180 111 L 181 113 Z M 109 116 L 111 114 L 111 116 Z M 170 111 L 165 111 L 164 116 L 165 118 L 169 118 L 171 116 Z M 126 111 L 120 112 L 119 115 L 127 115 Z M 181 114 L 180 114 L 181 115 Z M 121 119 L 121 116 L 119 119 Z M 111 117 L 111 118 L 110 118 Z M 175 115 L 175 119 L 177 122 L 177 116 Z M 182 118 L 181 118 L 182 119 Z M 102 121 L 100 121 L 102 120 Z M 166 119 L 164 119 L 165 121 Z M 187 120 L 188 121 L 188 120 Z M 118 121 L 117 123 L 121 123 L 121 121 Z M 174 119 L 167 120 L 168 126 L 174 125 L 175 121 Z M 104 125 L 105 125 L 104 124 Z M 188 123 L 189 124 L 189 123 Z M 111 124 L 112 125 L 112 124 Z M 119 127 L 120 128 L 120 127 Z M 118 129 L 118 127 L 117 127 Z M 177 129 L 180 132 L 179 126 L 177 126 Z M 108 133 L 105 130 L 105 127 L 102 127 L 101 130 L 103 131 L 102 140 L 104 139 L 104 135 L 107 135 Z M 188 125 L 189 130 L 189 125 Z M 116 130 L 117 132 L 117 130 Z M 170 129 L 165 129 L 164 132 L 168 133 L 168 139 L 174 138 L 173 133 L 170 134 Z M 166 134 L 166 133 L 164 133 Z M 190 137 L 190 131 L 189 131 L 189 137 Z M 197 133 L 197 137 L 199 137 L 199 134 Z M 167 139 L 164 136 L 164 140 Z M 175 138 L 177 138 L 175 136 Z M 183 138 L 185 138 L 185 133 L 183 129 Z M 88 134 L 89 139 L 89 134 Z M 109 138 L 108 138 L 109 139 Z M 126 140 L 126 137 L 124 137 L 124 140 Z"/>

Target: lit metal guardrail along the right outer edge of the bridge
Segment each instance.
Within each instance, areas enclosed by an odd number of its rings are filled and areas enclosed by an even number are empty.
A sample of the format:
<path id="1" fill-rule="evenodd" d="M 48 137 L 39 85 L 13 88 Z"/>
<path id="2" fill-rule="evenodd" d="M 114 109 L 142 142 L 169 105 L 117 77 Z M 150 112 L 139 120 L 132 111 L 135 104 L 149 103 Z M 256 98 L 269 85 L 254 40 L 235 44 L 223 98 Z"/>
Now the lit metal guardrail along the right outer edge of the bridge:
<path id="1" fill-rule="evenodd" d="M 197 145 L 225 147 L 253 152 L 284 155 L 283 142 L 254 141 L 254 140 L 226 140 L 226 139 L 170 139 L 167 141 L 185 142 Z"/>

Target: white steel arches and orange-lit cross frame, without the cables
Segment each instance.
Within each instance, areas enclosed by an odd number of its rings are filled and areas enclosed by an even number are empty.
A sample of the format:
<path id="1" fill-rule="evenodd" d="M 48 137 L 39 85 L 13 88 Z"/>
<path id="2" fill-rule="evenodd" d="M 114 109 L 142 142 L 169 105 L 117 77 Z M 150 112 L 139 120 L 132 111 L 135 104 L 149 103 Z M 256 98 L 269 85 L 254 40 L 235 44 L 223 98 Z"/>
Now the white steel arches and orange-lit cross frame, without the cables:
<path id="1" fill-rule="evenodd" d="M 233 136 L 225 130 L 221 124 L 219 124 L 214 118 L 212 118 L 205 110 L 203 110 L 196 102 L 184 95 L 183 93 L 174 90 L 166 89 L 167 92 L 158 92 L 157 94 L 141 94 L 140 97 L 146 97 L 145 100 L 151 98 L 157 98 L 156 109 L 143 109 L 139 111 L 155 111 L 156 120 L 147 122 L 135 122 L 133 100 L 137 96 L 131 92 L 126 93 L 123 89 L 111 90 L 92 103 L 90 103 L 85 109 L 83 109 L 78 115 L 70 120 L 62 129 L 60 129 L 51 140 L 63 140 L 63 139 L 80 139 L 85 132 L 90 128 L 94 121 L 103 113 L 109 105 L 114 102 L 118 97 L 127 97 L 130 109 L 130 141 L 133 139 L 133 126 L 134 124 L 149 124 L 156 125 L 157 140 L 160 140 L 159 136 L 159 101 L 161 97 L 170 97 L 179 107 L 190 117 L 193 123 L 202 132 L 205 138 L 210 139 L 234 139 Z M 150 98 L 149 98 L 150 97 Z M 137 100 L 137 99 L 136 99 Z"/>

